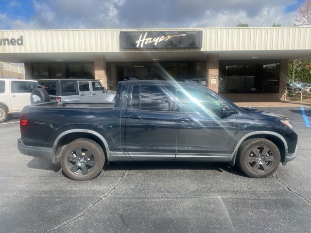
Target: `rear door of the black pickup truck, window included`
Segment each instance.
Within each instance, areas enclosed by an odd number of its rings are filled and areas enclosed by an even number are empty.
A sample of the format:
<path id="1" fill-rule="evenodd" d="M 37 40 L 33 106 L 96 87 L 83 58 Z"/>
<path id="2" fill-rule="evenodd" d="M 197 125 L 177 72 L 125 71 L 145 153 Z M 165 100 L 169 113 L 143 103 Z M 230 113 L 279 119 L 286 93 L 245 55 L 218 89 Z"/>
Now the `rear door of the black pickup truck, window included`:
<path id="1" fill-rule="evenodd" d="M 126 150 L 134 160 L 173 160 L 176 119 L 172 86 L 131 85 L 126 111 Z"/>

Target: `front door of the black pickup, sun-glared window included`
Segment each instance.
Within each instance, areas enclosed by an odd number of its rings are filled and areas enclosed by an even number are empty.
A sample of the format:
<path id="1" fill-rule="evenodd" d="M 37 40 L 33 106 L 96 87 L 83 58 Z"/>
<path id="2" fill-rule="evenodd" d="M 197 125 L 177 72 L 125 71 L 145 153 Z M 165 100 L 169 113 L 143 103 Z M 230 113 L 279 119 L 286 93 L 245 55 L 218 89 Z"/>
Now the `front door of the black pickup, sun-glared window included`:
<path id="1" fill-rule="evenodd" d="M 235 145 L 237 119 L 222 116 L 222 101 L 208 90 L 193 86 L 176 88 L 178 100 L 176 159 L 226 160 Z"/>

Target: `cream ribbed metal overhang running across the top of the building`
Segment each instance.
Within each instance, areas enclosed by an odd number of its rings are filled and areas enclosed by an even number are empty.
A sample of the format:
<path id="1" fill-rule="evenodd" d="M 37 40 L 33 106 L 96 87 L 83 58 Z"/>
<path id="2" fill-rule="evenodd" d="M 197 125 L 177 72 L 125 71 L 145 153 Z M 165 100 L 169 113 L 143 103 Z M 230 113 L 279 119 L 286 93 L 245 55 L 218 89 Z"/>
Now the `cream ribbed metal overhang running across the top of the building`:
<path id="1" fill-rule="evenodd" d="M 150 48 L 124 49 L 121 32 L 159 35 L 153 39 L 200 32 L 195 39 L 201 41 L 196 48 L 191 43 L 157 48 L 149 41 Z M 13 63 L 93 62 L 97 54 L 105 55 L 107 62 L 198 61 L 206 60 L 208 53 L 218 53 L 220 60 L 311 58 L 311 27 L 0 31 L 0 61 Z"/>

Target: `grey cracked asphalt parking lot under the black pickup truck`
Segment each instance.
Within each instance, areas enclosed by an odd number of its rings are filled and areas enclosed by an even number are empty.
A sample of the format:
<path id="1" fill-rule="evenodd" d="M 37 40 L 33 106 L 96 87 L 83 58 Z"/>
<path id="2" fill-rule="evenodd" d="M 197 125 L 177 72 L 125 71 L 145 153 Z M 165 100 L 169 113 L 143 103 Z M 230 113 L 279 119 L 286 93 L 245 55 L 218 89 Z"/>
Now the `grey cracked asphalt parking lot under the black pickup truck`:
<path id="1" fill-rule="evenodd" d="M 110 163 L 91 181 L 21 155 L 17 118 L 0 124 L 0 232 L 311 232 L 311 107 L 289 116 L 297 158 L 252 179 L 223 163 Z"/>

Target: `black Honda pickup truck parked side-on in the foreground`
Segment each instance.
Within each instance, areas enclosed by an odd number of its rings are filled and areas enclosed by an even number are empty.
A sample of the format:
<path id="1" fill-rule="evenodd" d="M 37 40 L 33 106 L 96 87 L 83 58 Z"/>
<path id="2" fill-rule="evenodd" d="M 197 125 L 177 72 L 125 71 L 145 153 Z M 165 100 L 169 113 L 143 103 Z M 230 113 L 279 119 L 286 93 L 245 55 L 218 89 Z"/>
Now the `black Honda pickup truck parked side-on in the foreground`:
<path id="1" fill-rule="evenodd" d="M 74 180 L 96 177 L 105 161 L 219 161 L 263 178 L 298 148 L 286 116 L 187 82 L 124 81 L 115 102 L 26 106 L 20 132 L 22 154 L 60 162 Z"/>

